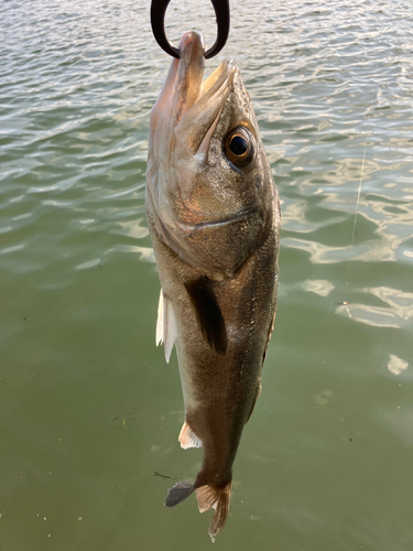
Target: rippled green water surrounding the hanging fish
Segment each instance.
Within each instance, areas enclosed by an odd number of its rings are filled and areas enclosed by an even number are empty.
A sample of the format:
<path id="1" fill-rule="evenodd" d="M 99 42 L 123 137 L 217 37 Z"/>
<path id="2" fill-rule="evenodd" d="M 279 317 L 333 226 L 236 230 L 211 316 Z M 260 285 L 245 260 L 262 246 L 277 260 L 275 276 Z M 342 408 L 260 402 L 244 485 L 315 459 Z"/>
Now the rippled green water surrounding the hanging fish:
<path id="1" fill-rule="evenodd" d="M 231 2 L 232 55 L 282 197 L 263 392 L 226 551 L 413 549 L 413 11 Z M 209 2 L 172 1 L 209 44 Z M 211 549 L 155 348 L 149 110 L 170 60 L 149 1 L 0 4 L 0 549 Z M 359 201 L 358 192 L 360 190 Z M 355 215 L 357 214 L 356 224 Z M 348 305 L 343 304 L 348 302 Z M 341 303 L 341 304 L 340 304 Z"/>

